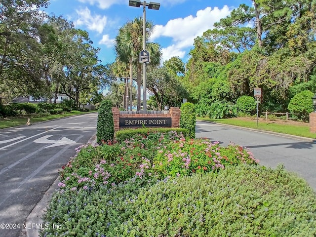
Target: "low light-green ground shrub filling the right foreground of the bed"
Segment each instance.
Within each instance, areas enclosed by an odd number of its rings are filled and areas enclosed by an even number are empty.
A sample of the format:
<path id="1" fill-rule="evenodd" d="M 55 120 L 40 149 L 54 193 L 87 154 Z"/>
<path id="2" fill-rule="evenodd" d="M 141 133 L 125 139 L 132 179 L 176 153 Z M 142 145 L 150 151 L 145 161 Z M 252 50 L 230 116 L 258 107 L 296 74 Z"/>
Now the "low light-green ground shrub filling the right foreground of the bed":
<path id="1" fill-rule="evenodd" d="M 241 165 L 182 176 L 130 198 L 123 207 L 130 215 L 115 226 L 118 236 L 316 235 L 315 193 L 282 167 Z"/>

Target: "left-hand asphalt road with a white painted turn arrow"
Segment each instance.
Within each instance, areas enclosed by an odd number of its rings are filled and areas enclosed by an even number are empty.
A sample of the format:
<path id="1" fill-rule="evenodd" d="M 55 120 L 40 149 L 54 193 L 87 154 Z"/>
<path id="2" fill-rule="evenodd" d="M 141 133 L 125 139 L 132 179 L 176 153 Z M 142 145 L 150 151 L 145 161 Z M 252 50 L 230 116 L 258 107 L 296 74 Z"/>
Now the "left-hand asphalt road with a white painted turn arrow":
<path id="1" fill-rule="evenodd" d="M 92 113 L 0 130 L 0 237 L 23 235 L 29 213 L 95 134 L 96 121 Z"/>

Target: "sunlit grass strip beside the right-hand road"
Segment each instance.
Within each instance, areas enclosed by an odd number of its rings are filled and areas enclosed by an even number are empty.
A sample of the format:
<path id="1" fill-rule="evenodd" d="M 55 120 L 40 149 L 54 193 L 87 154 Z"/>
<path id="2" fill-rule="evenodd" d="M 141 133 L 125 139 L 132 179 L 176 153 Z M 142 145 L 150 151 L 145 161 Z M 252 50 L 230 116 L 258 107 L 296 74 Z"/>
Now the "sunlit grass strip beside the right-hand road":
<path id="1" fill-rule="evenodd" d="M 289 135 L 316 138 L 316 133 L 310 132 L 309 123 L 276 120 L 268 122 L 264 119 L 260 119 L 257 126 L 257 120 L 253 118 L 223 118 L 223 119 L 211 119 L 197 117 L 198 120 L 211 121 L 229 125 L 235 125 L 240 127 L 254 128 L 265 131 L 279 132 Z"/>

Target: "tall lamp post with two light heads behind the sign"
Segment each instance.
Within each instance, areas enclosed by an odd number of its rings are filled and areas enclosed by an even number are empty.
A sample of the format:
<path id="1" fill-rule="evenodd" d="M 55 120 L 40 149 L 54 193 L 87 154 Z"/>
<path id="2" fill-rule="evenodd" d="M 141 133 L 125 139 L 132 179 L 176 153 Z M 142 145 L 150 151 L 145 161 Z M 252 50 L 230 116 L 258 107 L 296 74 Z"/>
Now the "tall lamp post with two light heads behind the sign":
<path id="1" fill-rule="evenodd" d="M 140 5 L 144 6 L 143 8 L 143 50 L 146 50 L 146 6 L 148 6 L 149 9 L 158 10 L 160 7 L 160 3 L 152 2 L 152 1 L 149 3 L 146 3 L 146 1 L 141 2 L 140 0 L 129 0 L 128 5 L 135 6 L 135 7 L 140 7 Z M 146 89 L 147 89 L 146 63 L 144 62 L 143 63 L 143 107 L 144 107 L 145 113 L 147 113 Z"/>

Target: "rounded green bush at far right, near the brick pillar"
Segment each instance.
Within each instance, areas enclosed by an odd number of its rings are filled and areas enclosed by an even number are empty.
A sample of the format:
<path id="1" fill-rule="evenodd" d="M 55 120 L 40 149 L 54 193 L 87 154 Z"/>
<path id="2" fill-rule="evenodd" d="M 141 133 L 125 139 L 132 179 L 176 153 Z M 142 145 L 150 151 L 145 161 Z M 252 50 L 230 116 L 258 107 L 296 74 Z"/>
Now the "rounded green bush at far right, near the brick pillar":
<path id="1" fill-rule="evenodd" d="M 299 119 L 303 121 L 309 120 L 309 114 L 313 112 L 312 97 L 314 93 L 309 90 L 304 90 L 296 94 L 290 101 L 287 109 L 291 113 L 300 114 Z"/>

